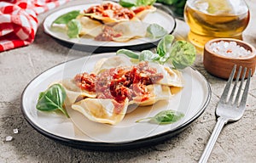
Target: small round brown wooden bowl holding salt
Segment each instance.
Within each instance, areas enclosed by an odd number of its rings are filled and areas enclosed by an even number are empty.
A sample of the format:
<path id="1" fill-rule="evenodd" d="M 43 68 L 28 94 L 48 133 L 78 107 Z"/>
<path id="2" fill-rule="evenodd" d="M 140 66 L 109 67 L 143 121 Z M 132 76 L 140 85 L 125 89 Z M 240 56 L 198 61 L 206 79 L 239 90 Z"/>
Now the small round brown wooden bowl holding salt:
<path id="1" fill-rule="evenodd" d="M 221 55 L 219 53 L 214 53 L 210 45 L 213 42 L 221 42 L 221 41 L 236 42 L 237 45 L 245 48 L 247 51 L 250 51 L 251 53 L 241 58 L 232 58 L 232 57 Z M 248 70 L 252 69 L 252 75 L 255 70 L 255 66 L 256 66 L 255 48 L 253 48 L 253 46 L 248 44 L 247 42 L 243 42 L 241 40 L 236 40 L 232 38 L 212 39 L 205 44 L 203 64 L 205 66 L 205 69 L 210 74 L 212 74 L 213 76 L 224 78 L 224 79 L 229 78 L 230 72 L 233 69 L 234 65 L 236 65 L 236 72 L 238 71 L 239 66 L 247 67 L 247 74 L 246 74 L 246 78 L 247 78 Z"/>

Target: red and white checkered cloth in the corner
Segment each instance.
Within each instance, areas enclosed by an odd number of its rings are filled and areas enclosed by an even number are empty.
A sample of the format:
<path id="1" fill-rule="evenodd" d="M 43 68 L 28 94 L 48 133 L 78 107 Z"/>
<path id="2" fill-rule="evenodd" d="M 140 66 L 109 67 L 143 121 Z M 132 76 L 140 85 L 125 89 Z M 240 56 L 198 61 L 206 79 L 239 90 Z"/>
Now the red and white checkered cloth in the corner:
<path id="1" fill-rule="evenodd" d="M 69 0 L 5 0 L 0 2 L 0 52 L 34 41 L 37 15 Z"/>

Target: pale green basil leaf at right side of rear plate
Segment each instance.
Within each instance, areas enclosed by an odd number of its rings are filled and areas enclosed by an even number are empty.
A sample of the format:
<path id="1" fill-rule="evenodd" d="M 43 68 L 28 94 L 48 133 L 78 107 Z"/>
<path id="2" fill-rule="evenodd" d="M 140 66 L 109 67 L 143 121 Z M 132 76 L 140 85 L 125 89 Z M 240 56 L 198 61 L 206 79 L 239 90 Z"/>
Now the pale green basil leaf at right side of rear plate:
<path id="1" fill-rule="evenodd" d="M 168 32 L 165 30 L 165 28 L 163 28 L 162 26 L 160 26 L 158 24 L 148 25 L 147 37 L 149 37 L 149 38 L 152 38 L 152 39 L 160 38 L 160 37 L 164 37 L 167 34 L 168 34 Z"/>

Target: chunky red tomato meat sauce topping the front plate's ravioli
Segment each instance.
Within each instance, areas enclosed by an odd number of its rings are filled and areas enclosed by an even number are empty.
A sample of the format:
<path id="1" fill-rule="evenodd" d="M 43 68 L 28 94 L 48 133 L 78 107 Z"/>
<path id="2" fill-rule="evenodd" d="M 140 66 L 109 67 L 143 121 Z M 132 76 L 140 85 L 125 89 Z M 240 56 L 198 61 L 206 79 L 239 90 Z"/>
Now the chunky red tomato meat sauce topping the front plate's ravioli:
<path id="1" fill-rule="evenodd" d="M 125 99 L 140 100 L 149 98 L 147 86 L 160 81 L 164 76 L 157 73 L 148 62 L 141 62 L 131 67 L 118 67 L 104 70 L 99 75 L 86 72 L 74 77 L 76 85 L 82 90 L 95 92 L 97 98 L 113 99 L 115 112 L 119 113 L 125 104 Z M 139 97 L 139 98 L 137 98 Z"/>

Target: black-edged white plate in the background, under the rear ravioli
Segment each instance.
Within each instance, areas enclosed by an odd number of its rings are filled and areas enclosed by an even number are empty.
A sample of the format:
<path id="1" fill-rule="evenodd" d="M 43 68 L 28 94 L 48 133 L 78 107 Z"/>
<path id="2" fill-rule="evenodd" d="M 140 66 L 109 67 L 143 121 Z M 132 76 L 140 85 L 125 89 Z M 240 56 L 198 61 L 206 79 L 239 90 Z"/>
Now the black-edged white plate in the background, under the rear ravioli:
<path id="1" fill-rule="evenodd" d="M 53 21 L 61 16 L 62 14 L 66 14 L 73 10 L 83 10 L 86 8 L 90 8 L 90 6 L 97 5 L 99 3 L 90 3 L 90 4 L 82 4 L 78 6 L 68 7 L 68 8 L 62 8 L 61 10 L 55 11 L 52 14 L 49 14 L 45 20 L 44 20 L 44 31 L 49 34 L 51 37 L 54 37 L 62 42 L 67 42 L 70 44 L 75 44 L 76 46 L 89 46 L 89 47 L 96 47 L 96 48 L 108 48 L 116 50 L 117 48 L 131 48 L 133 50 L 142 50 L 149 47 L 149 45 L 154 47 L 155 42 L 159 41 L 152 40 L 149 38 L 137 38 L 132 39 L 129 42 L 99 42 L 95 41 L 94 39 L 90 38 L 69 38 L 67 37 L 67 34 L 61 31 L 53 31 L 51 29 L 51 25 Z M 145 19 L 143 19 L 143 22 L 146 22 L 148 24 L 158 24 L 161 25 L 163 28 L 168 31 L 168 33 L 172 33 L 176 27 L 176 21 L 175 19 L 170 15 L 166 14 L 164 11 L 157 9 L 154 13 L 148 14 Z M 143 46 L 142 45 L 147 45 Z M 104 49 L 103 49 L 104 50 Z M 113 51 L 113 50 L 112 50 Z"/>

